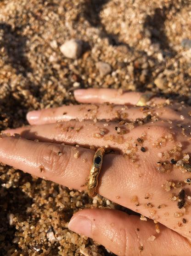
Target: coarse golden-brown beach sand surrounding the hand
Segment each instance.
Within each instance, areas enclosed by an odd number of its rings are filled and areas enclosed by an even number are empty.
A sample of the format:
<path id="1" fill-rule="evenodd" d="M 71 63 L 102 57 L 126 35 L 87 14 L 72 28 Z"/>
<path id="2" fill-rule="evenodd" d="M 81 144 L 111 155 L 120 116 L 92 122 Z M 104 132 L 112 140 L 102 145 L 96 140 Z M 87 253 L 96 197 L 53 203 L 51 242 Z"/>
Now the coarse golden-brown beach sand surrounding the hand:
<path id="1" fill-rule="evenodd" d="M 152 2 L 1 1 L 0 129 L 27 125 L 29 110 L 75 103 L 76 88 L 151 90 L 191 104 L 191 2 Z M 83 44 L 74 59 L 60 49 L 72 38 Z M 117 204 L 4 165 L 0 180 L 1 255 L 112 255 L 67 223 L 79 209 Z"/>

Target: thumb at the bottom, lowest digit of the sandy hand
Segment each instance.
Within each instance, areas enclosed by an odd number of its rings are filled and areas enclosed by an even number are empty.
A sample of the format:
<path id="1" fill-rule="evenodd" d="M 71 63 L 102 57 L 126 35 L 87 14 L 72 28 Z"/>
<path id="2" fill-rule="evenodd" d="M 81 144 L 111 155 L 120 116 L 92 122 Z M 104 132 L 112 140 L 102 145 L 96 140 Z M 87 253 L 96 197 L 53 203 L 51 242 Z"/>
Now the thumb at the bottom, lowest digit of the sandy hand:
<path id="1" fill-rule="evenodd" d="M 75 213 L 68 228 L 93 238 L 119 256 L 191 255 L 188 240 L 152 220 L 111 209 L 84 209 Z M 160 231 L 160 233 L 158 233 Z"/>

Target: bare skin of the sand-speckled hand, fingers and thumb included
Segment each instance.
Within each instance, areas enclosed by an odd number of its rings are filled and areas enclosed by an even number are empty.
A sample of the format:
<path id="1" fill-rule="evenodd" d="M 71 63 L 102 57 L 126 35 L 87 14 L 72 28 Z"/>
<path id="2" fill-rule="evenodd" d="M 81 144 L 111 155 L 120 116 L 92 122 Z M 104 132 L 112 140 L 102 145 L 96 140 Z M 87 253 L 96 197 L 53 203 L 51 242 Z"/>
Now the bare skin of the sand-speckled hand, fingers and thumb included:
<path id="1" fill-rule="evenodd" d="M 171 163 L 172 158 L 178 161 L 191 155 L 191 107 L 157 97 L 147 102 L 150 107 L 136 107 L 140 95 L 81 89 L 74 92 L 81 105 L 29 112 L 31 126 L 4 131 L 20 137 L 2 135 L 0 161 L 73 189 L 87 190 L 85 183 L 95 154 L 90 146 L 103 147 L 107 154 L 97 192 L 146 216 L 147 221 L 97 208 L 74 214 L 68 227 L 117 255 L 191 255 L 191 189 L 184 182 L 191 173 Z M 127 124 L 119 124 L 119 119 Z M 76 144 L 80 147 L 74 147 Z M 176 156 L 169 153 L 172 149 Z M 158 167 L 157 162 L 165 161 L 169 168 Z M 174 182 L 174 187 L 168 191 L 165 182 Z M 185 204 L 178 208 L 182 189 Z"/>

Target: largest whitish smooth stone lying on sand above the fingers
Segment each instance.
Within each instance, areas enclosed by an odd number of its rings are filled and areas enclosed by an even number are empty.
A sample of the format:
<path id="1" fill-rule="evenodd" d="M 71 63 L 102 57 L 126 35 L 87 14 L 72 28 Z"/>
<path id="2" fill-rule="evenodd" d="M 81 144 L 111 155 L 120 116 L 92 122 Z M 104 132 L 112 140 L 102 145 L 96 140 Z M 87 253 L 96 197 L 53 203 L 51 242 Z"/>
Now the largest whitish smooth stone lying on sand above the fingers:
<path id="1" fill-rule="evenodd" d="M 83 41 L 71 39 L 63 43 L 60 47 L 62 54 L 70 59 L 78 59 L 82 54 Z"/>

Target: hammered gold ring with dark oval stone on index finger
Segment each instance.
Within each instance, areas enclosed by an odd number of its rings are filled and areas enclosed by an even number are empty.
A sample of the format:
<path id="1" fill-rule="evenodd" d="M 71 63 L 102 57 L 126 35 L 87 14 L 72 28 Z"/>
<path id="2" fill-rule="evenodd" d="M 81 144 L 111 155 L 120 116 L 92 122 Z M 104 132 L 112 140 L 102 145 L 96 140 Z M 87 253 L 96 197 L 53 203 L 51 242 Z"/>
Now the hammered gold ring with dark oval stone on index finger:
<path id="1" fill-rule="evenodd" d="M 88 182 L 88 195 L 89 196 L 97 195 L 96 188 L 98 185 L 98 175 L 101 170 L 104 153 L 105 153 L 105 150 L 103 148 L 99 148 L 96 150 L 96 153 L 94 155 L 92 167 L 90 170 L 90 178 L 89 178 L 89 182 Z"/>

